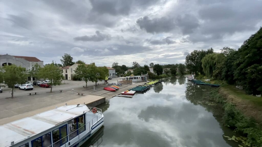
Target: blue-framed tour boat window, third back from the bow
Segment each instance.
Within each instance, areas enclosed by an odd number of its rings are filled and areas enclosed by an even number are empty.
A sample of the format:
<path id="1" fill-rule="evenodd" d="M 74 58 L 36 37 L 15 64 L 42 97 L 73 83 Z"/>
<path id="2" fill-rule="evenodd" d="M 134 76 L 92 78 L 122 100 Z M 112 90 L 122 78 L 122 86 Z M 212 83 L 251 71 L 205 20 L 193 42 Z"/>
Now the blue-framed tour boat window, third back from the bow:
<path id="1" fill-rule="evenodd" d="M 48 147 L 51 145 L 51 133 L 46 133 L 45 135 L 36 138 L 31 141 L 32 147 Z"/>

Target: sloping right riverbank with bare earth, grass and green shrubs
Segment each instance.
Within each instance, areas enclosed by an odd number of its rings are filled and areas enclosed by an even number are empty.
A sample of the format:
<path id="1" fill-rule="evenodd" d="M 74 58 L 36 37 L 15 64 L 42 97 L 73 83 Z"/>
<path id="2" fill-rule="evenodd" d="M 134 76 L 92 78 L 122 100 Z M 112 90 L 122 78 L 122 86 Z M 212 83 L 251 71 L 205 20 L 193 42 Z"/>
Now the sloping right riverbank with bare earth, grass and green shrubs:
<path id="1" fill-rule="evenodd" d="M 256 112 L 257 106 L 254 107 L 254 104 L 249 101 L 231 95 L 230 89 L 226 87 L 213 89 L 209 96 L 217 103 L 223 104 L 221 113 L 223 125 L 246 137 L 242 145 L 262 145 L 261 111 Z"/>

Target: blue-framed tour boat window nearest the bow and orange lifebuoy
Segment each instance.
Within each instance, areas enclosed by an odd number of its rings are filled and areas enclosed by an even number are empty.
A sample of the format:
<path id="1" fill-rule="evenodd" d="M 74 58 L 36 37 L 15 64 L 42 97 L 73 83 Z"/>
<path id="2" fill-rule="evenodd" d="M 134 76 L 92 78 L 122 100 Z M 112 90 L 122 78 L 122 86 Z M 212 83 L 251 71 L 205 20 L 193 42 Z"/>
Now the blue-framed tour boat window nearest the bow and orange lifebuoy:
<path id="1" fill-rule="evenodd" d="M 69 140 L 76 137 L 78 134 L 81 134 L 85 131 L 85 117 L 84 115 L 74 118 L 73 120 L 68 121 Z"/>

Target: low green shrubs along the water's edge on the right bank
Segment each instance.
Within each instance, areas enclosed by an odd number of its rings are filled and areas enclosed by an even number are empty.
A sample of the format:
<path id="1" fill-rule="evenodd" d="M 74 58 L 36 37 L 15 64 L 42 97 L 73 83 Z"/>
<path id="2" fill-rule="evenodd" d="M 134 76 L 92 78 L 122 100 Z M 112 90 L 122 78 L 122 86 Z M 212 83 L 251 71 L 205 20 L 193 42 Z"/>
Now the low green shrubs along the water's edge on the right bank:
<path id="1" fill-rule="evenodd" d="M 262 129 L 253 118 L 244 116 L 234 104 L 227 102 L 226 98 L 219 94 L 218 89 L 212 90 L 209 95 L 217 103 L 223 104 L 225 126 L 247 137 L 247 146 L 262 146 Z"/>

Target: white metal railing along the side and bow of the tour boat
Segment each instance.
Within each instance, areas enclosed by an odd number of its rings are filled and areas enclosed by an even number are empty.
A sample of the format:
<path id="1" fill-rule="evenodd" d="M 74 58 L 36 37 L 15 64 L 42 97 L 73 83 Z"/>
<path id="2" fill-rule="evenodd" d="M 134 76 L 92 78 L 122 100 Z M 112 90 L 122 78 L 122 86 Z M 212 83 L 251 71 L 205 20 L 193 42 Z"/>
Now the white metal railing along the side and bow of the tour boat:
<path id="1" fill-rule="evenodd" d="M 93 108 L 96 108 L 96 107 L 88 107 L 88 108 L 89 108 L 89 110 L 92 111 L 92 109 L 93 109 Z M 97 112 L 96 112 L 97 115 L 96 115 L 95 117 L 93 117 L 92 120 L 90 120 L 89 122 L 85 123 L 85 125 L 81 126 L 81 127 L 78 128 L 77 130 L 73 131 L 72 133 L 68 134 L 67 136 L 63 137 L 62 139 L 58 140 L 57 142 L 49 145 L 48 147 L 52 147 L 52 146 L 53 146 L 53 147 L 60 147 L 61 144 L 65 145 L 65 147 L 66 147 L 66 146 L 71 146 L 72 144 L 70 144 L 70 142 L 69 142 L 69 140 L 68 140 L 69 137 L 70 137 L 70 135 L 77 133 L 77 134 L 78 134 L 78 135 L 77 135 L 77 136 L 78 136 L 78 139 L 80 139 L 80 137 L 79 137 L 80 132 L 78 132 L 78 131 L 79 131 L 79 130 L 82 131 L 82 129 L 83 129 L 82 127 L 87 127 L 87 125 L 89 126 L 89 131 L 91 131 L 91 127 L 94 125 L 94 123 L 95 123 L 95 122 L 98 122 L 100 119 L 102 119 L 102 109 L 96 108 L 96 110 L 97 110 Z M 98 119 L 98 116 L 100 117 L 100 115 L 101 115 L 101 118 Z M 93 121 L 94 118 L 96 118 L 96 121 Z M 92 125 L 91 125 L 91 124 L 92 124 Z M 90 125 L 91 125 L 91 126 L 90 126 Z M 77 137 L 77 136 L 75 136 L 75 137 Z M 74 138 L 75 138 L 75 137 L 74 137 Z M 69 142 L 69 143 L 67 144 L 67 142 Z"/>

